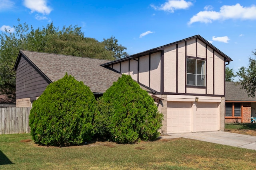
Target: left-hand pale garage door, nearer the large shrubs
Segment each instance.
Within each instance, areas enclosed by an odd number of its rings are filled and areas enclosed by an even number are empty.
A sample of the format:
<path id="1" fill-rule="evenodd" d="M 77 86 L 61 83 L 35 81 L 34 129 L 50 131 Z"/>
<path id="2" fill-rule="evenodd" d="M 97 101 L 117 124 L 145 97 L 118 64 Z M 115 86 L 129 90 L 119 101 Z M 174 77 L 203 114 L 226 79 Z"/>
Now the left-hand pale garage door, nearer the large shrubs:
<path id="1" fill-rule="evenodd" d="M 167 133 L 191 132 L 191 102 L 167 102 Z"/>

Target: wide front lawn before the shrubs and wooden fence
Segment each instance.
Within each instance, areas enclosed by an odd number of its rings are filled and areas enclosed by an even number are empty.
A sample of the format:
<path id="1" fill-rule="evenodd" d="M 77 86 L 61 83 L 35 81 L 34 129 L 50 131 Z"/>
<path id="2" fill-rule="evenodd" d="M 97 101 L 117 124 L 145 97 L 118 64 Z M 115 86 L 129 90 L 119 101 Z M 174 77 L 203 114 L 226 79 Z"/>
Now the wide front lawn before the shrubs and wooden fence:
<path id="1" fill-rule="evenodd" d="M 255 169 L 256 150 L 191 139 L 72 147 L 34 144 L 30 134 L 0 135 L 0 169 Z"/>

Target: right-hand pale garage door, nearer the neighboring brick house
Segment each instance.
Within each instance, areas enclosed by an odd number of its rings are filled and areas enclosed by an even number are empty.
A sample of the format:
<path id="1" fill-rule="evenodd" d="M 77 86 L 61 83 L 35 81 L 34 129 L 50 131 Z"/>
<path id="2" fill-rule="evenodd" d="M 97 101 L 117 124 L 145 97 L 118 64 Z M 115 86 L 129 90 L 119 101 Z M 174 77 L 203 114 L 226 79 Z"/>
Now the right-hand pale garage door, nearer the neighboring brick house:
<path id="1" fill-rule="evenodd" d="M 218 104 L 197 103 L 196 110 L 196 131 L 217 131 L 218 130 Z"/>

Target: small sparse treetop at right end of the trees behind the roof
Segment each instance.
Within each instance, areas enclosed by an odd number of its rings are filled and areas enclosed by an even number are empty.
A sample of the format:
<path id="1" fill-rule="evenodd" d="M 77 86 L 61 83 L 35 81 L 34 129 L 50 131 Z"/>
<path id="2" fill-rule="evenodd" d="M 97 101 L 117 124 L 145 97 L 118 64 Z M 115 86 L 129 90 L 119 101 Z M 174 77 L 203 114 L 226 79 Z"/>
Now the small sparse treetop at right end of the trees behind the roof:
<path id="1" fill-rule="evenodd" d="M 103 40 L 104 41 L 102 43 L 104 44 L 105 48 L 108 51 L 113 51 L 114 57 L 116 59 L 120 59 L 127 55 L 127 53 L 124 52 L 124 50 L 126 50 L 127 48 L 122 45 L 118 45 L 118 40 L 116 39 L 116 37 L 111 36 L 110 38 Z"/>

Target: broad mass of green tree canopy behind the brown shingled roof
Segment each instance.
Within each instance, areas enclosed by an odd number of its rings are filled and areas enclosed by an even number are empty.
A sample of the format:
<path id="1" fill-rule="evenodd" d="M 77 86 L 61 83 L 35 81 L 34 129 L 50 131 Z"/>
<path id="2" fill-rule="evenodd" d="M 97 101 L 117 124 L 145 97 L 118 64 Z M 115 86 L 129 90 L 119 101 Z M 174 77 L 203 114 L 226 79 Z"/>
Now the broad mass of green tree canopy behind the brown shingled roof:
<path id="1" fill-rule="evenodd" d="M 20 49 L 108 60 L 126 55 L 126 48 L 118 45 L 115 37 L 100 42 L 85 37 L 77 25 L 60 29 L 49 23 L 34 29 L 32 25 L 21 24 L 18 19 L 18 25 L 13 27 L 14 32 L 5 30 L 0 34 L 0 94 L 7 94 L 9 98 L 15 98 L 16 72 L 13 67 Z"/>

